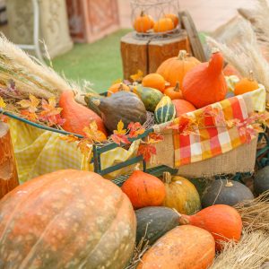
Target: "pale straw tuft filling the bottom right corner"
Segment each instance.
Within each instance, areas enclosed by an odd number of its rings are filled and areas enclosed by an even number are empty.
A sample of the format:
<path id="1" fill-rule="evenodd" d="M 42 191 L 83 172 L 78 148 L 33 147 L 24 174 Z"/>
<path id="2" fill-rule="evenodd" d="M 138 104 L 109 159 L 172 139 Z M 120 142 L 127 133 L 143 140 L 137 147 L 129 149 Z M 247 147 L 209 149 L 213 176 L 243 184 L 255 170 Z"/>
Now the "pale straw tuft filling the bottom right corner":
<path id="1" fill-rule="evenodd" d="M 259 269 L 269 261 L 269 237 L 262 230 L 244 230 L 239 243 L 223 242 L 210 269 Z"/>

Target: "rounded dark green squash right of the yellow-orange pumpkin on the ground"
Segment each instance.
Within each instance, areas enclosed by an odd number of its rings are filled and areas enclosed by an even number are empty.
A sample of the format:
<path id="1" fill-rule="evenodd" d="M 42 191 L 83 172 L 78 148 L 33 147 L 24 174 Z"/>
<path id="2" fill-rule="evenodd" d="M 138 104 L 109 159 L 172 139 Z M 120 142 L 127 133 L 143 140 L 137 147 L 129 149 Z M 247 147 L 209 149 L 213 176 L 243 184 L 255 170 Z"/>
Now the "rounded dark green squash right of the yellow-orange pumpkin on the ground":
<path id="1" fill-rule="evenodd" d="M 218 179 L 205 189 L 202 206 L 213 204 L 234 205 L 244 200 L 252 200 L 254 195 L 248 187 L 234 180 Z"/>

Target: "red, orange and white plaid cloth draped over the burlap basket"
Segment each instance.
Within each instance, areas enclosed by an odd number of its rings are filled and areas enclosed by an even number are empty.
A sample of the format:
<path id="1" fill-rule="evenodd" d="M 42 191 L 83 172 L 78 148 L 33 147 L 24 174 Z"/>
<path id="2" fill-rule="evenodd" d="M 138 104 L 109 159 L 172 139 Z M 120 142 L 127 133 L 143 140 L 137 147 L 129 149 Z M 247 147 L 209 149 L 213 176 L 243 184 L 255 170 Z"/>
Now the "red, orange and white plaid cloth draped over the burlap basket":
<path id="1" fill-rule="evenodd" d="M 244 121 L 248 117 L 248 112 L 251 113 L 256 108 L 264 108 L 264 95 L 265 89 L 259 89 L 252 93 L 222 100 L 206 108 L 187 113 L 187 115 L 200 118 L 204 109 L 220 108 L 225 120 L 238 118 L 240 121 Z M 257 106 L 256 99 L 260 96 L 262 96 L 261 100 L 263 101 Z M 247 108 L 245 100 L 252 101 L 250 111 L 248 111 L 249 108 Z M 178 132 L 174 133 L 175 167 L 213 158 L 219 154 L 229 152 L 243 143 L 247 143 L 246 136 L 240 135 L 237 127 L 230 129 L 225 126 L 212 127 L 214 126 L 213 117 L 204 117 L 201 125 L 205 126 L 205 128 L 199 129 L 198 134 L 183 135 L 178 134 Z"/>

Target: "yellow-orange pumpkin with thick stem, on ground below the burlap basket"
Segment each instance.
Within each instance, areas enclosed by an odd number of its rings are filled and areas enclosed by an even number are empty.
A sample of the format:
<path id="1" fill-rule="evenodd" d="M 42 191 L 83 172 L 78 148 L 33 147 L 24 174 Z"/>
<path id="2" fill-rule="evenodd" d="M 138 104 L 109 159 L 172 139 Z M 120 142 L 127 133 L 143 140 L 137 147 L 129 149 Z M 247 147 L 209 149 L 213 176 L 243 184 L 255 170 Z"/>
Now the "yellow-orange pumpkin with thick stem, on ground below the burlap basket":
<path id="1" fill-rule="evenodd" d="M 164 172 L 162 181 L 164 182 L 166 196 L 164 206 L 175 208 L 179 213 L 194 214 L 201 209 L 200 196 L 195 186 L 179 176 L 171 176 L 169 172 Z"/>

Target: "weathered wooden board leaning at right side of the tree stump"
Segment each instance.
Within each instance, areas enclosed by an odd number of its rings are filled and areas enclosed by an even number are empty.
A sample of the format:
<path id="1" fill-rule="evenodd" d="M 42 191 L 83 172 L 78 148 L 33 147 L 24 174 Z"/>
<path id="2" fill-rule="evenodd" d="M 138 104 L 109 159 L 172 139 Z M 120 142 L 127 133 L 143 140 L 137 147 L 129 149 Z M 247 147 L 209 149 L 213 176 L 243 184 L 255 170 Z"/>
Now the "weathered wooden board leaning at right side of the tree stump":
<path id="1" fill-rule="evenodd" d="M 187 36 L 190 41 L 193 55 L 200 62 L 206 62 L 207 58 L 204 53 L 204 48 L 201 40 L 199 39 L 199 35 L 191 15 L 187 11 L 183 11 L 179 13 L 179 19 L 181 22 L 181 27 L 187 30 Z"/>

